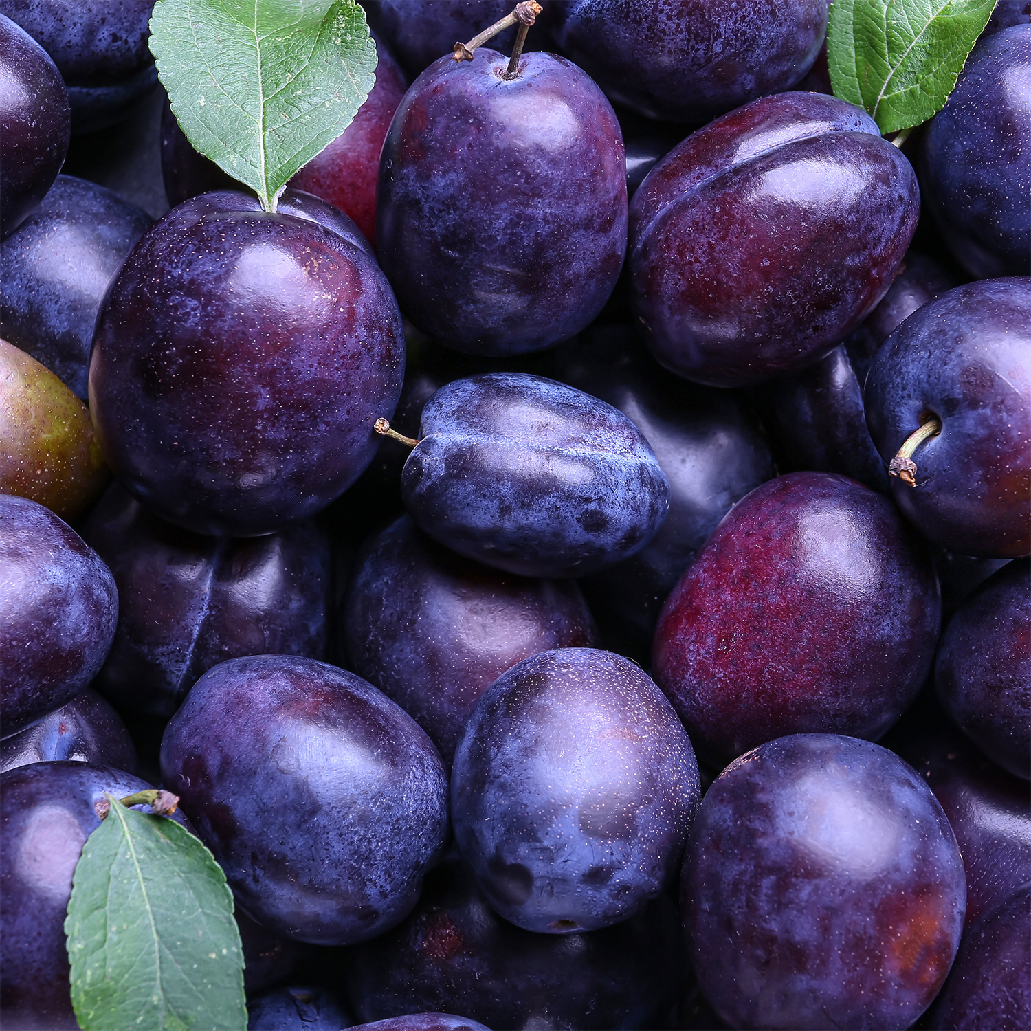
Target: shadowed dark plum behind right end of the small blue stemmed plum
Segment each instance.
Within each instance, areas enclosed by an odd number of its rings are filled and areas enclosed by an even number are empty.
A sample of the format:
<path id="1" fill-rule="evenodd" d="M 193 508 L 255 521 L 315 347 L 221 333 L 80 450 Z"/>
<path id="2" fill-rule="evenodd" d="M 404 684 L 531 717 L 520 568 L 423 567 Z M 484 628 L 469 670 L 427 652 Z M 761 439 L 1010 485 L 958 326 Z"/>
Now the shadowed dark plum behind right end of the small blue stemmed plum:
<path id="1" fill-rule="evenodd" d="M 774 475 L 744 398 L 664 372 L 625 326 L 594 328 L 560 347 L 558 378 L 619 408 L 644 435 L 669 481 L 669 513 L 636 555 L 587 576 L 606 646 L 652 648 L 659 612 L 695 553 L 751 490 Z"/>

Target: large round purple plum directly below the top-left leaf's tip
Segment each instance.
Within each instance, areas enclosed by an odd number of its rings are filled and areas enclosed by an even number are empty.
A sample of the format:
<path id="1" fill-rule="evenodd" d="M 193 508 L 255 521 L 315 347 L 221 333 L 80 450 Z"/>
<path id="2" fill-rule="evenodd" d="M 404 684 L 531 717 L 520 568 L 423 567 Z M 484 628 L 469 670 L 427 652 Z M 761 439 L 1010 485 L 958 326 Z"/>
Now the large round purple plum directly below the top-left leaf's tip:
<path id="1" fill-rule="evenodd" d="M 100 308 L 90 407 L 104 454 L 195 533 L 256 536 L 324 508 L 372 460 L 372 424 L 401 390 L 390 286 L 367 244 L 335 231 L 357 234 L 345 215 L 297 197 L 296 213 L 236 193 L 180 204 Z"/>

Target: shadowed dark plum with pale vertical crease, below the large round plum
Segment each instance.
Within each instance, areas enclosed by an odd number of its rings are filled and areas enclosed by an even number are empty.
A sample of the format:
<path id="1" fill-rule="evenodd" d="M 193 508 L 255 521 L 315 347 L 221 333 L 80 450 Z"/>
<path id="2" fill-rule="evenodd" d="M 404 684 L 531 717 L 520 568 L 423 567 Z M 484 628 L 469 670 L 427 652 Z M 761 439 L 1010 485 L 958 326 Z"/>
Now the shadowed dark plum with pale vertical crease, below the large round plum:
<path id="1" fill-rule="evenodd" d="M 170 717 L 197 678 L 245 655 L 326 657 L 330 546 L 294 523 L 245 540 L 202 537 L 113 485 L 82 528 L 119 589 L 119 626 L 95 687 Z"/>

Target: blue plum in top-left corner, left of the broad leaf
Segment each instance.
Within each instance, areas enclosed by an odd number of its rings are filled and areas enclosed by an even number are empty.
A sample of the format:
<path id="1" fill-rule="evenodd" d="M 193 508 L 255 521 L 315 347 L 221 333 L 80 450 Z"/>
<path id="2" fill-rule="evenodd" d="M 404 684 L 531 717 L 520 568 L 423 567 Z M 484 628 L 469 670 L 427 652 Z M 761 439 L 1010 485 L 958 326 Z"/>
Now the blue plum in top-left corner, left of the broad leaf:
<path id="1" fill-rule="evenodd" d="M 0 0 L 0 12 L 60 69 L 76 133 L 117 122 L 157 85 L 147 45 L 153 7 L 151 0 Z"/>

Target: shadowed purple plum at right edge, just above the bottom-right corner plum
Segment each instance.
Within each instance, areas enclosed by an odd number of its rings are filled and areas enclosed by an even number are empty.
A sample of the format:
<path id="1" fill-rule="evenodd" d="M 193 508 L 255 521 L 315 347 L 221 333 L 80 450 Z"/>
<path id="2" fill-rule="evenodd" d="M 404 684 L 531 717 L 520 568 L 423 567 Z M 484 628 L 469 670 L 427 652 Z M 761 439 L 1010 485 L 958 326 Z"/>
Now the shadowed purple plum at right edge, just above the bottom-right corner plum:
<path id="1" fill-rule="evenodd" d="M 1031 883 L 1031 785 L 1000 769 L 944 719 L 899 745 L 893 742 L 892 751 L 927 781 L 945 810 L 963 854 L 969 927 Z"/>

